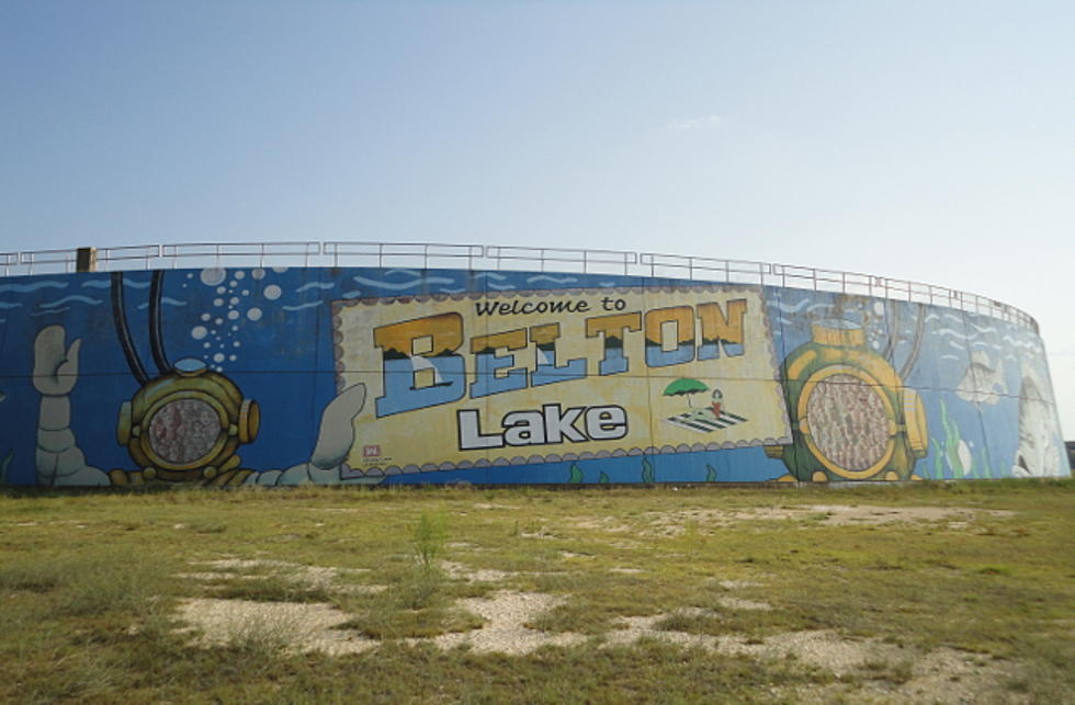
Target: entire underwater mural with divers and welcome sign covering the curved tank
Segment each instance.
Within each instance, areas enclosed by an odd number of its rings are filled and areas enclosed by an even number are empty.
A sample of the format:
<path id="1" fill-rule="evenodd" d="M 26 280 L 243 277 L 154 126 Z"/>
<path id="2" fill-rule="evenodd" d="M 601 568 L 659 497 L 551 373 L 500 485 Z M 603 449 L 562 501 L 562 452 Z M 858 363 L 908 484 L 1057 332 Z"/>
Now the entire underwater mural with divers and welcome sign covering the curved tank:
<path id="1" fill-rule="evenodd" d="M 0 280 L 8 485 L 1066 476 L 1038 336 L 655 277 L 205 269 Z"/>

